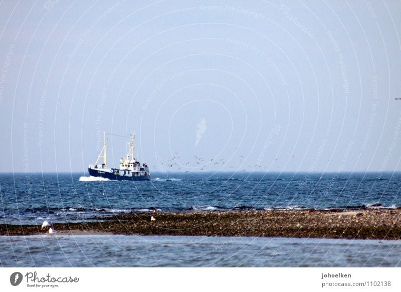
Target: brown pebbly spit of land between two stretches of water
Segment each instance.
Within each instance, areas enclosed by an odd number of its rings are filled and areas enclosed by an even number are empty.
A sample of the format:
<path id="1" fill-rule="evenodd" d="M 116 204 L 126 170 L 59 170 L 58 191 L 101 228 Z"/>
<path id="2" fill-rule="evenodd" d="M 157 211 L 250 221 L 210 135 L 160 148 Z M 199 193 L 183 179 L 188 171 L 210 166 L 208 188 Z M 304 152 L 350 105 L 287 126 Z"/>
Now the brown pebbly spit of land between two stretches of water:
<path id="1" fill-rule="evenodd" d="M 93 218 L 97 222 L 55 223 L 60 235 L 186 235 L 296 238 L 401 238 L 401 209 L 159 212 Z M 0 235 L 46 235 L 40 225 L 0 224 Z"/>

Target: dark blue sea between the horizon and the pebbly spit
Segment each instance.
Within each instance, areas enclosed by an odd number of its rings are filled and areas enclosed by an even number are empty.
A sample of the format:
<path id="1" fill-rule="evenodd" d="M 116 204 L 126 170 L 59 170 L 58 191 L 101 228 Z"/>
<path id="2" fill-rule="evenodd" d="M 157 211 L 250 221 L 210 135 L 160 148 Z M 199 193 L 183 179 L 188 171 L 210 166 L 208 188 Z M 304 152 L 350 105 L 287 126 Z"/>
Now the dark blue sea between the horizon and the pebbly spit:
<path id="1" fill-rule="evenodd" d="M 86 177 L 85 177 L 86 176 Z M 149 182 L 87 174 L 1 174 L 0 224 L 93 220 L 121 212 L 401 206 L 400 173 L 152 173 Z"/>

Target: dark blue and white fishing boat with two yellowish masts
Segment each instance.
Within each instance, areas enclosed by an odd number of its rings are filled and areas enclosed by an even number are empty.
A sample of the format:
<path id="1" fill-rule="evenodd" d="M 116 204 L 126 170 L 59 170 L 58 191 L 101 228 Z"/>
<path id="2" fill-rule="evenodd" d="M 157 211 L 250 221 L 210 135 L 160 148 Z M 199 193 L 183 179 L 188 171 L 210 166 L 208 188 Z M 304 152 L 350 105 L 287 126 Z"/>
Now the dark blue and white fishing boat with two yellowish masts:
<path id="1" fill-rule="evenodd" d="M 90 176 L 102 177 L 109 180 L 117 181 L 149 181 L 150 172 L 147 164 L 141 163 L 134 157 L 134 134 L 130 134 L 131 141 L 128 143 L 129 151 L 124 157 L 121 157 L 119 168 L 108 168 L 106 157 L 106 134 L 104 133 L 104 145 L 95 164 L 90 164 L 88 172 Z M 99 161 L 103 159 L 103 163 Z"/>

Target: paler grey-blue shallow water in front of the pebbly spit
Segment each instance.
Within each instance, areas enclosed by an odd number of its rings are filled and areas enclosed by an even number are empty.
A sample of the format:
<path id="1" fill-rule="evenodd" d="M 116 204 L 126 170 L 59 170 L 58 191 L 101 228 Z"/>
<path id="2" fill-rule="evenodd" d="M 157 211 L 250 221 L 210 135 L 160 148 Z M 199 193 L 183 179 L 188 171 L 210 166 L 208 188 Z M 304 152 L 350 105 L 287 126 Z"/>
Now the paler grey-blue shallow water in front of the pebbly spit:
<path id="1" fill-rule="evenodd" d="M 0 266 L 399 267 L 401 241 L 125 235 L 0 236 Z"/>

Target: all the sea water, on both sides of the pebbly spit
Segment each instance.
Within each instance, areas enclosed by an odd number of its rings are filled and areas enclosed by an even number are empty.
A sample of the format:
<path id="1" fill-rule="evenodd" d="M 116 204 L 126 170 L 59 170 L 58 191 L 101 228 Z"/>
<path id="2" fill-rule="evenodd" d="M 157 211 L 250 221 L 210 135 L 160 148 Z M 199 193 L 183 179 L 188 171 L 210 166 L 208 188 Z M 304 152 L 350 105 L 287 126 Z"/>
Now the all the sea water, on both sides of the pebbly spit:
<path id="1" fill-rule="evenodd" d="M 93 221 L 130 212 L 401 206 L 401 173 L 0 174 L 0 224 Z M 401 242 L 259 237 L 0 236 L 0 266 L 401 266 Z"/>

